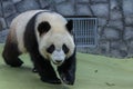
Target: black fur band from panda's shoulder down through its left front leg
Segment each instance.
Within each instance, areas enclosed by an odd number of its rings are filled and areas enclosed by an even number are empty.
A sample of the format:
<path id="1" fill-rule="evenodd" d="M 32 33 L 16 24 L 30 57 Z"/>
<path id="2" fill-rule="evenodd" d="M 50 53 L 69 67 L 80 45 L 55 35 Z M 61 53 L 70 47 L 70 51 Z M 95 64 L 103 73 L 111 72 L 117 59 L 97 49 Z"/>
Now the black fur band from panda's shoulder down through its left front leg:
<path id="1" fill-rule="evenodd" d="M 50 83 L 61 83 L 50 61 L 43 58 L 39 52 L 39 46 L 34 32 L 37 17 L 38 14 L 35 14 L 27 24 L 24 32 L 24 46 L 31 56 L 31 59 L 41 77 L 41 80 Z"/>

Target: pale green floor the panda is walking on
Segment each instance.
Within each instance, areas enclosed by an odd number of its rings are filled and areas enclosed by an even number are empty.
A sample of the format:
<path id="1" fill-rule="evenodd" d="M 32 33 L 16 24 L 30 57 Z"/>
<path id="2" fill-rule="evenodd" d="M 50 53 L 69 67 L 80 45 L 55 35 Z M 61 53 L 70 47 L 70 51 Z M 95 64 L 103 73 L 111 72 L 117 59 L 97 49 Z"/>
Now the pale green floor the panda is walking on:
<path id="1" fill-rule="evenodd" d="M 0 46 L 0 55 L 2 51 Z M 0 89 L 133 89 L 133 59 L 114 59 L 78 53 L 76 80 L 74 86 L 48 85 L 31 72 L 28 56 L 21 68 L 10 68 L 0 56 Z"/>

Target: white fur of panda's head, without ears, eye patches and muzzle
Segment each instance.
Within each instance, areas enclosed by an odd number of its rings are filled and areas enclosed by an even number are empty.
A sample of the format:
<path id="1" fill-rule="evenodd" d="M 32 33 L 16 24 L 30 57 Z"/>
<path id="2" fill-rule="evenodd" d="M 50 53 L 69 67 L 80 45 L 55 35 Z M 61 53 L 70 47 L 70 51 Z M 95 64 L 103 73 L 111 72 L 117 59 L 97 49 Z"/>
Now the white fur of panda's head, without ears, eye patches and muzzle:
<path id="1" fill-rule="evenodd" d="M 38 26 L 38 23 L 42 21 L 48 21 L 51 26 L 51 29 L 48 33 L 40 38 L 35 27 L 40 53 L 43 57 L 48 58 L 49 55 L 45 49 L 50 44 L 53 43 L 55 46 L 55 50 L 61 50 L 64 43 L 70 49 L 69 53 L 65 56 L 66 58 L 69 58 L 73 53 L 75 46 L 73 42 L 73 37 L 68 32 L 65 28 L 66 20 L 55 12 L 43 12 L 38 16 L 35 26 Z"/>

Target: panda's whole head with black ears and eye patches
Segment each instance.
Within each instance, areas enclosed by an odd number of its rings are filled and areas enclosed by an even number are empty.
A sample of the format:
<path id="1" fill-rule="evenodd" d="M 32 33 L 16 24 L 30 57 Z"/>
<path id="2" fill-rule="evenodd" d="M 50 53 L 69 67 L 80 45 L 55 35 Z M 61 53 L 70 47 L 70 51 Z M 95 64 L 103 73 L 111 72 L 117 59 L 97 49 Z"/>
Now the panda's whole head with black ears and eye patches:
<path id="1" fill-rule="evenodd" d="M 40 13 L 35 21 L 39 51 L 45 59 L 60 66 L 74 52 L 71 34 L 72 20 L 66 21 L 54 12 Z"/>

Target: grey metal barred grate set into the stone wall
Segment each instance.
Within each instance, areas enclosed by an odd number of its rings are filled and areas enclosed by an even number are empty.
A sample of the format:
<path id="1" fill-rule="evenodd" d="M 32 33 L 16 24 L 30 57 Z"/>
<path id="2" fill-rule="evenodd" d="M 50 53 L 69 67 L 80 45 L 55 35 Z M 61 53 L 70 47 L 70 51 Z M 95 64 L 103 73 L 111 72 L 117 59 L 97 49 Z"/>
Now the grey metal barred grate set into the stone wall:
<path id="1" fill-rule="evenodd" d="M 73 20 L 76 48 L 92 48 L 98 44 L 98 19 L 90 17 L 66 17 Z"/>

